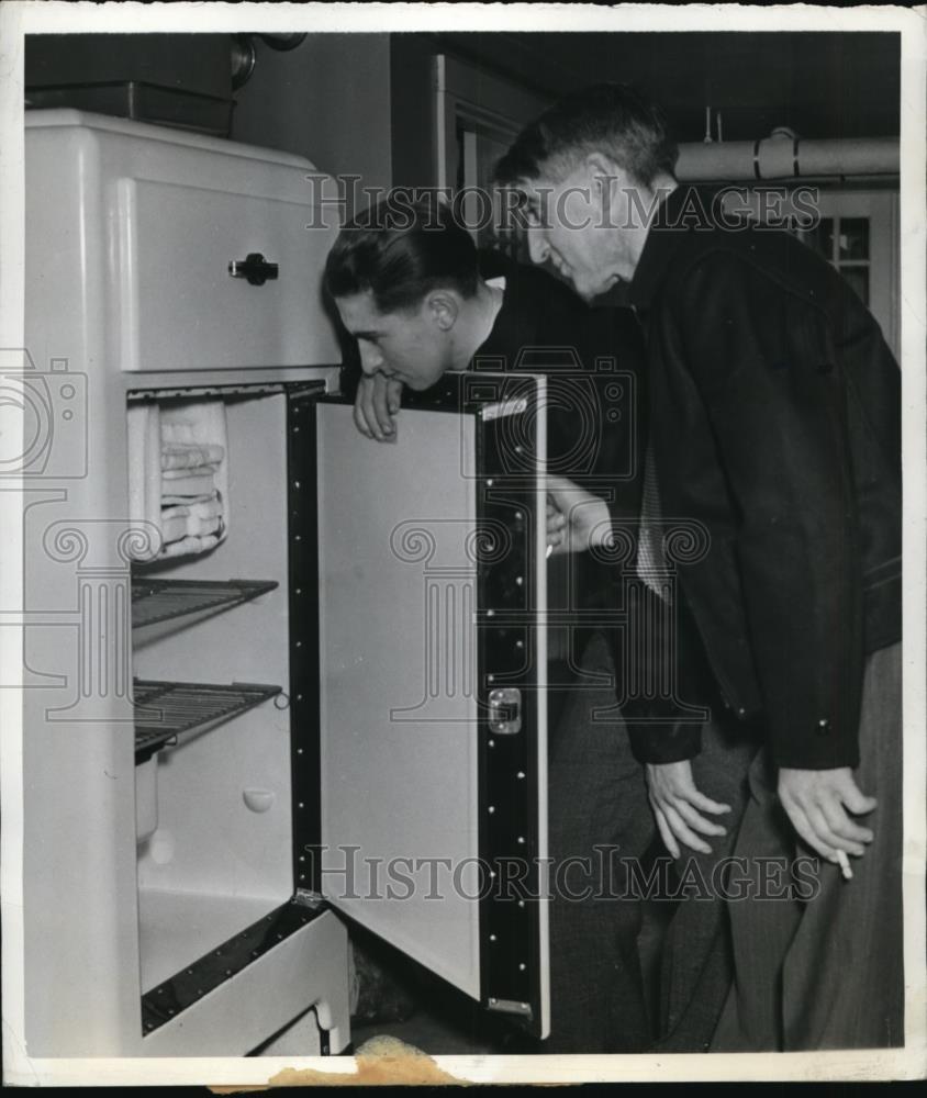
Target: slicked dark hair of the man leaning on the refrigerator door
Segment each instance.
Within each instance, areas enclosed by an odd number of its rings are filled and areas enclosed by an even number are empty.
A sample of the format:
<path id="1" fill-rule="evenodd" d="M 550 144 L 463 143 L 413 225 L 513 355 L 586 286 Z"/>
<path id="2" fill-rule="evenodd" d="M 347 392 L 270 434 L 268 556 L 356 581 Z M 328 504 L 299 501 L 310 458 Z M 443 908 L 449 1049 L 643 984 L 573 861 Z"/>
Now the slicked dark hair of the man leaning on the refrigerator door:
<path id="1" fill-rule="evenodd" d="M 325 289 L 333 298 L 369 290 L 381 313 L 416 309 L 433 290 L 472 298 L 477 248 L 437 201 L 402 201 L 397 192 L 348 222 L 328 253 Z"/>

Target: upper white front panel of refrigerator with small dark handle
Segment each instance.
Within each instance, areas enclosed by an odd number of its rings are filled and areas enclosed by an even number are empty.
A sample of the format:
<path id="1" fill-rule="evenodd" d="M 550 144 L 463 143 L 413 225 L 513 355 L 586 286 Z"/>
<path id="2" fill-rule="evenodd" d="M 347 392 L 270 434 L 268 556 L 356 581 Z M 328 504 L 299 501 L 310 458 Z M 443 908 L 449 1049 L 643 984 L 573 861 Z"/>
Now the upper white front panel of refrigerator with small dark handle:
<path id="1" fill-rule="evenodd" d="M 118 187 L 116 284 L 123 370 L 324 366 L 340 360 L 322 303 L 334 228 L 308 203 L 146 179 Z M 255 281 L 230 264 L 253 260 Z M 257 284 L 265 276 L 263 282 Z"/>

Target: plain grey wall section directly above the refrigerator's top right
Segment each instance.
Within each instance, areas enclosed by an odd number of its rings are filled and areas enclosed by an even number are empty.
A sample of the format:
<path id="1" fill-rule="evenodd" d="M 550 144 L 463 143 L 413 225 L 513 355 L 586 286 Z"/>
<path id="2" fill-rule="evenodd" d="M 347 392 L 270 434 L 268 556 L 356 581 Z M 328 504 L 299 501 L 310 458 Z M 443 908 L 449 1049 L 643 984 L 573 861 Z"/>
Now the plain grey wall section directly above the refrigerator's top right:
<path id="1" fill-rule="evenodd" d="M 310 34 L 287 53 L 256 41 L 254 74 L 235 92 L 233 139 L 359 175 L 360 187 L 389 187 L 389 35 Z"/>

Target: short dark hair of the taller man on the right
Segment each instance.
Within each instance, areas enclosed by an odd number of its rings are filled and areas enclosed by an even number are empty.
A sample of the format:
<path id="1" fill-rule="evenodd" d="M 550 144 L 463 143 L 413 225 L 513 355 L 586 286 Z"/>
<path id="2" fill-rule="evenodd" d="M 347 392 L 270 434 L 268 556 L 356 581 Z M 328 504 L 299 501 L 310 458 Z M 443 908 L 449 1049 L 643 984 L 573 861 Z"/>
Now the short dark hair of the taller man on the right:
<path id="1" fill-rule="evenodd" d="M 503 186 L 541 176 L 562 179 L 590 153 L 604 153 L 638 183 L 672 175 L 679 149 L 662 111 L 636 89 L 600 83 L 567 96 L 522 131 L 499 161 Z"/>

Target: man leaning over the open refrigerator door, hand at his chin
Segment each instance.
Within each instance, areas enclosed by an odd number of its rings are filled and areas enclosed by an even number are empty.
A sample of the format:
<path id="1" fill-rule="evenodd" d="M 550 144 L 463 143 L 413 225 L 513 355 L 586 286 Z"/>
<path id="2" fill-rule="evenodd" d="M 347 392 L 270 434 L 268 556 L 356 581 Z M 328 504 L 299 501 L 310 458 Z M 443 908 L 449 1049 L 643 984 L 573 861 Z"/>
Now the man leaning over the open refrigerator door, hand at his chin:
<path id="1" fill-rule="evenodd" d="M 621 422 L 617 430 L 608 430 L 606 412 L 590 416 L 583 402 L 571 399 L 571 388 L 579 389 L 581 374 L 593 373 L 604 356 L 639 373 L 640 336 L 626 310 L 590 310 L 546 272 L 478 254 L 451 212 L 431 205 L 416 208 L 410 217 L 405 209 L 391 216 L 389 205 L 381 204 L 346 226 L 330 254 L 325 285 L 357 340 L 364 377 L 355 422 L 368 437 L 394 437 L 401 400 L 414 400 L 446 370 L 465 370 L 479 359 L 491 360 L 496 370 L 520 363 L 544 370 L 546 359 L 557 371 L 548 407 L 549 452 L 561 458 L 588 452 L 577 444 L 583 432 L 592 433 L 597 456 L 592 468 L 584 462 L 584 471 L 615 475 L 613 444 L 619 446 L 632 425 Z M 574 356 L 576 377 L 562 372 L 565 348 Z M 525 351 L 530 351 L 529 363 Z M 629 513 L 636 513 L 639 488 L 633 479 L 619 485 Z M 601 594 L 601 580 L 597 586 Z M 619 834 L 604 826 L 607 809 L 591 810 L 599 804 L 637 804 L 643 788 L 639 764 L 632 759 L 621 765 L 623 730 L 614 719 L 593 722 L 590 716 L 613 708 L 615 701 L 611 657 L 601 636 L 590 643 L 582 670 L 605 685 L 573 692 L 551 737 L 551 856 L 559 864 L 591 855 L 596 842 L 618 842 L 623 856 L 641 858 L 654 831 L 646 805 L 634 815 L 633 828 Z M 572 883 L 578 890 L 585 884 L 578 876 Z M 634 899 L 552 897 L 552 1023 L 541 1051 L 641 1052 L 651 1045 L 640 965 L 619 960 L 622 951 L 636 953 L 640 908 Z M 617 940 L 616 952 L 611 943 Z"/>

